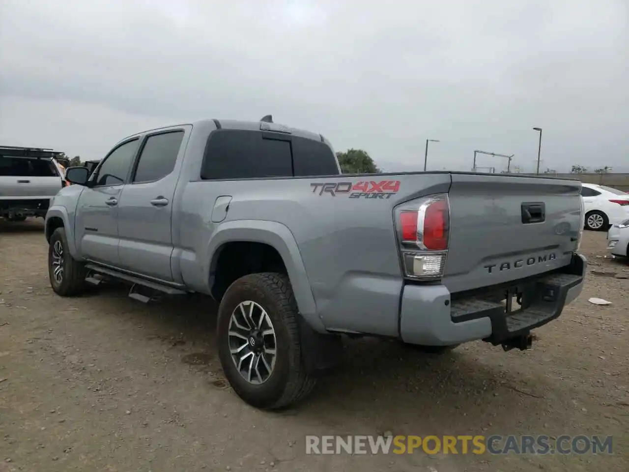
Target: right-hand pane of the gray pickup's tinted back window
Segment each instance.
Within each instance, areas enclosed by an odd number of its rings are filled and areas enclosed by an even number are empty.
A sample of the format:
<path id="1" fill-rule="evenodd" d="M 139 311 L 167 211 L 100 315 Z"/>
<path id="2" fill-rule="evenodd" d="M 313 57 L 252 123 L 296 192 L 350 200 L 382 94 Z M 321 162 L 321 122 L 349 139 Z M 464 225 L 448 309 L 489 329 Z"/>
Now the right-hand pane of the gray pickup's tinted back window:
<path id="1" fill-rule="evenodd" d="M 337 158 L 324 142 L 293 137 L 292 159 L 295 177 L 338 175 Z"/>

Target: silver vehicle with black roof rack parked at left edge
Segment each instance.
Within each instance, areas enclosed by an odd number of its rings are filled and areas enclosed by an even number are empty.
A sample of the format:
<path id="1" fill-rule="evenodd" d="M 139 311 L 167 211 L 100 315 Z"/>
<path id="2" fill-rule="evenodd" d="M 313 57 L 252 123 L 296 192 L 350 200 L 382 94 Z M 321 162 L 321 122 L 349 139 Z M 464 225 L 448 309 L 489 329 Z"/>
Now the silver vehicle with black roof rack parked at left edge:
<path id="1" fill-rule="evenodd" d="M 65 185 L 52 149 L 0 146 L 0 216 L 23 221 L 45 216 L 50 199 Z"/>

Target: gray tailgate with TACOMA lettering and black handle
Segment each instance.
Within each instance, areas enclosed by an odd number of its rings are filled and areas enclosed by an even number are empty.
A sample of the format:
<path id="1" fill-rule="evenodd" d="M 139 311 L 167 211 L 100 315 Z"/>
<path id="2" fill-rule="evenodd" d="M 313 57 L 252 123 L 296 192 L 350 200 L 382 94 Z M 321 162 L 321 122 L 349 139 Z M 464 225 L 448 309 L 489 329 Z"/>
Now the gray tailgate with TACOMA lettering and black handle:
<path id="1" fill-rule="evenodd" d="M 570 264 L 580 189 L 571 180 L 452 173 L 443 283 L 456 293 Z"/>

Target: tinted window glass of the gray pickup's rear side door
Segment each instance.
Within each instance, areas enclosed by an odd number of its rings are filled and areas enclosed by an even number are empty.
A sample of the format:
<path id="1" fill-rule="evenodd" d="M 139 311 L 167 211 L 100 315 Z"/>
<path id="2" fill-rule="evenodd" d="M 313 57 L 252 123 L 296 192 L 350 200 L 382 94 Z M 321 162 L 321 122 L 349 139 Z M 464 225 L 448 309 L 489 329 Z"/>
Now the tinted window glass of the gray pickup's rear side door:
<path id="1" fill-rule="evenodd" d="M 183 138 L 182 131 L 149 136 L 140 154 L 133 182 L 154 182 L 170 174 L 175 168 Z"/>

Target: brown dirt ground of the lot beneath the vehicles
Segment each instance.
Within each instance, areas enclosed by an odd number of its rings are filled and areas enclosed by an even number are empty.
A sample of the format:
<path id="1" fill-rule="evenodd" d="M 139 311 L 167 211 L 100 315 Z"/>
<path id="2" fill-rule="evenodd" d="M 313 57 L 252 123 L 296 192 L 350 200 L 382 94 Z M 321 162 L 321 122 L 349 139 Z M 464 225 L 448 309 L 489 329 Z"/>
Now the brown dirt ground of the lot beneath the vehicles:
<path id="1" fill-rule="evenodd" d="M 204 298 L 142 305 L 124 286 L 53 294 L 42 220 L 0 219 L 0 472 L 629 471 L 629 274 L 586 232 L 584 293 L 530 351 L 426 356 L 348 341 L 297 408 L 226 385 Z M 593 273 L 598 271 L 598 273 Z M 596 306 L 596 296 L 612 302 Z M 613 435 L 613 455 L 307 455 L 307 434 Z"/>

